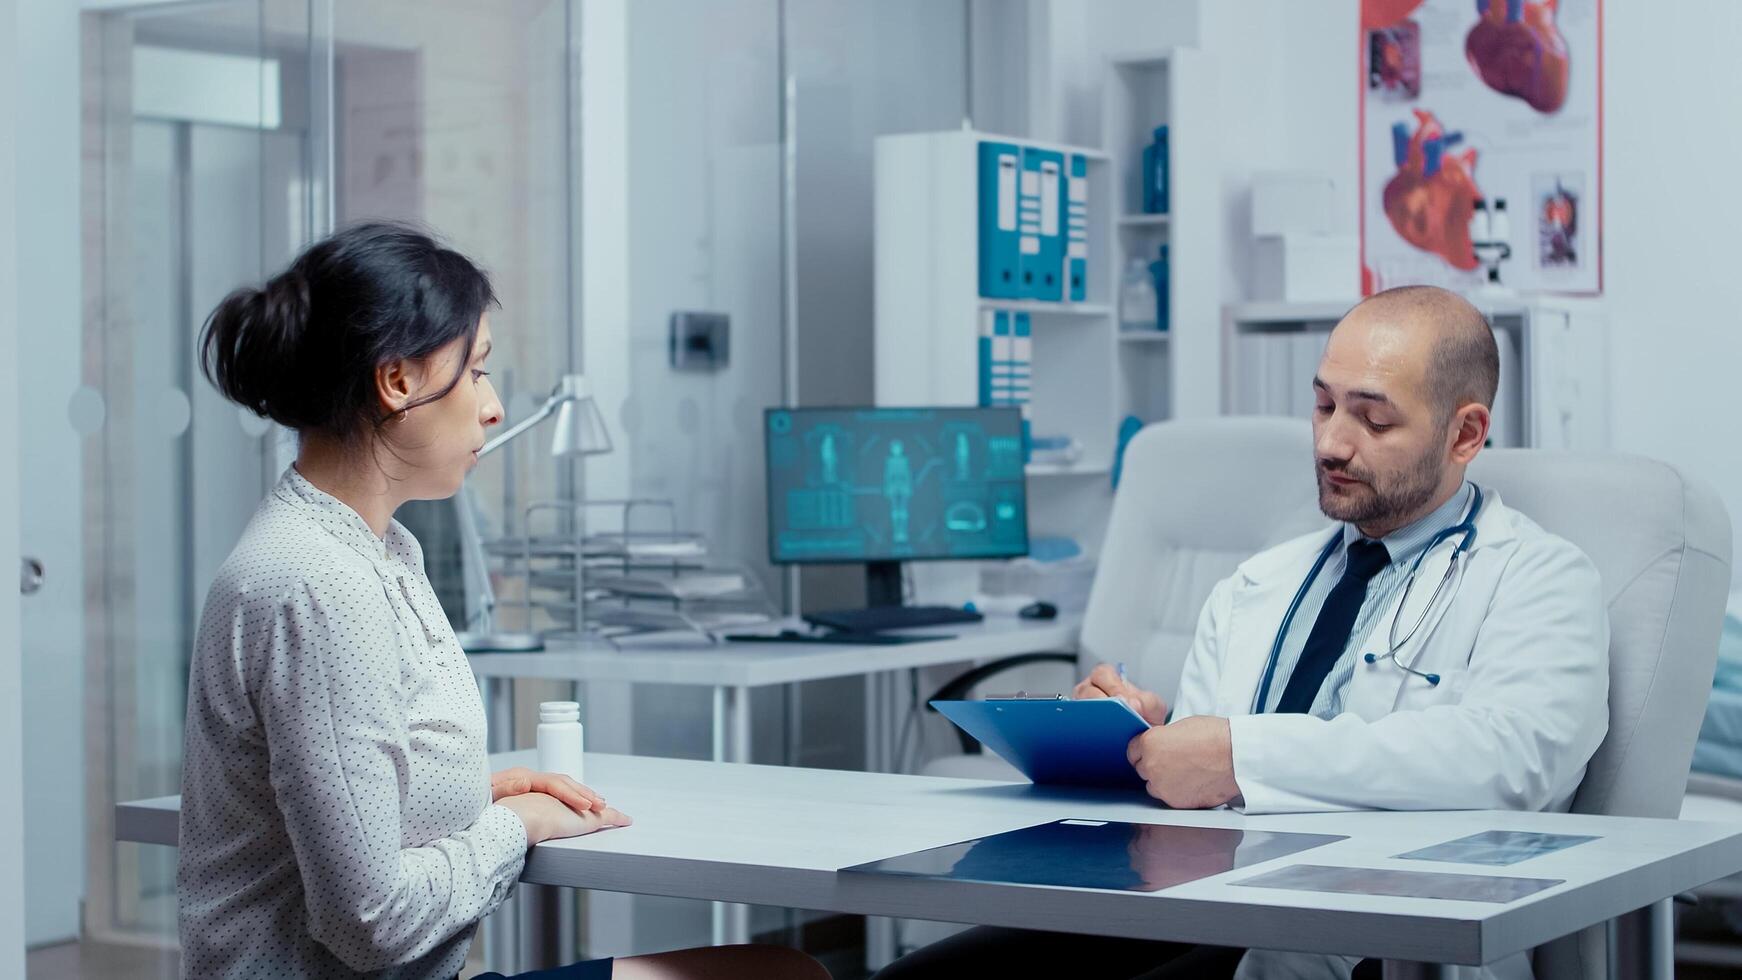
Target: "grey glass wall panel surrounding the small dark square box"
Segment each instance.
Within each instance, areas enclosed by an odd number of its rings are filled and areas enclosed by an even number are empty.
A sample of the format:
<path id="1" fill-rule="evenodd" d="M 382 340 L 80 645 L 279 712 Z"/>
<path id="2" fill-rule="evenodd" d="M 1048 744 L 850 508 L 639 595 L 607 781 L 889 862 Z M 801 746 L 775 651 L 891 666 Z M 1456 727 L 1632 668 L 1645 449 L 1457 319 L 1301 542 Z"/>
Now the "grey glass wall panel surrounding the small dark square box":
<path id="1" fill-rule="evenodd" d="M 760 449 L 782 364 L 777 26 L 770 0 L 631 3 L 622 409 L 624 442 L 638 449 L 634 493 L 672 500 L 681 527 L 706 533 L 770 588 L 779 580 L 766 562 Z M 723 367 L 671 366 L 679 310 L 732 319 Z"/>

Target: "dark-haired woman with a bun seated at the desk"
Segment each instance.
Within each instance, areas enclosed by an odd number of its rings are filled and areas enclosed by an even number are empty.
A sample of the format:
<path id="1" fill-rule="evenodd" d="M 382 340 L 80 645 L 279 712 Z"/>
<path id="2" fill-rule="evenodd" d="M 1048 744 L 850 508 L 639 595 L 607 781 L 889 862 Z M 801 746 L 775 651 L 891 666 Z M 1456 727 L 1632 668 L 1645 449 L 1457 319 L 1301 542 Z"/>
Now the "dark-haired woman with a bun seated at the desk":
<path id="1" fill-rule="evenodd" d="M 362 225 L 206 324 L 207 378 L 300 442 L 200 620 L 178 870 L 188 977 L 456 977 L 531 844 L 629 825 L 566 776 L 490 773 L 472 674 L 392 519 L 451 496 L 502 421 L 493 303 L 458 252 Z M 563 975 L 826 977 L 773 947 Z"/>

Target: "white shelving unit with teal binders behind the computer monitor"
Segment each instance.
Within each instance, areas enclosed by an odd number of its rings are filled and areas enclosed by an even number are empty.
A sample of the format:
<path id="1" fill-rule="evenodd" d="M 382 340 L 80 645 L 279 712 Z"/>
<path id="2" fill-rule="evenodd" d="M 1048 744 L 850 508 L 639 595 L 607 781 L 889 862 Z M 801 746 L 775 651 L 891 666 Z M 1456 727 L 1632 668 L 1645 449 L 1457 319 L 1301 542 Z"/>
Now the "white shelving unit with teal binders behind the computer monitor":
<path id="1" fill-rule="evenodd" d="M 1030 465 L 1031 536 L 1068 536 L 1097 552 L 1111 507 L 1118 426 L 1219 411 L 1221 190 L 1214 158 L 1209 61 L 1195 50 L 1108 64 L 1106 148 L 1059 146 L 974 131 L 876 141 L 876 402 L 972 406 L 979 397 L 984 310 L 1028 313 L 1030 423 L 1036 437 L 1071 435 L 1075 465 Z M 1141 212 L 1141 157 L 1167 124 L 1172 209 Z M 988 299 L 979 294 L 979 144 L 1014 143 L 1087 160 L 1084 301 Z M 1127 256 L 1171 244 L 1171 331 L 1125 334 L 1118 279 Z M 974 592 L 972 567 L 913 566 L 920 595 Z"/>

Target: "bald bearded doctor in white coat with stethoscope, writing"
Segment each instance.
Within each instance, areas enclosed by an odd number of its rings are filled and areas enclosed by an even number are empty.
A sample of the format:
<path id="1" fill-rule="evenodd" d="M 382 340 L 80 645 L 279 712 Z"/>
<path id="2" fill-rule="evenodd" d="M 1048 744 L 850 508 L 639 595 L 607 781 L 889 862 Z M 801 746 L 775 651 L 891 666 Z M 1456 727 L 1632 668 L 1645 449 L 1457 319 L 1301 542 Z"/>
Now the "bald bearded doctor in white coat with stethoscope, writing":
<path id="1" fill-rule="evenodd" d="M 1500 353 L 1453 292 L 1402 287 L 1336 326 L 1312 379 L 1313 477 L 1336 527 L 1240 564 L 1198 616 L 1162 700 L 1099 665 L 1078 698 L 1125 698 L 1131 742 L 1174 808 L 1566 809 L 1608 729 L 1608 616 L 1590 559 L 1465 479 Z M 1352 957 L 979 928 L 883 977 L 1367 977 Z M 1523 956 L 1491 975 L 1529 977 Z"/>

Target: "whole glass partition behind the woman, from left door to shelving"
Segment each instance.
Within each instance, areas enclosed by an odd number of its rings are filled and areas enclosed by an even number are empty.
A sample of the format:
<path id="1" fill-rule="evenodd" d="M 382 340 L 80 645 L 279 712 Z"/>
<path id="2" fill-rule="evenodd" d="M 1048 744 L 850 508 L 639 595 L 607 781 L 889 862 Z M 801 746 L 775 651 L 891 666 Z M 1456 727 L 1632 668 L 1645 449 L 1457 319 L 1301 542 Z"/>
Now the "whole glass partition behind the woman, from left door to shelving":
<path id="1" fill-rule="evenodd" d="M 206 312 L 338 225 L 427 225 L 495 279 L 509 421 L 578 371 L 617 446 L 585 467 L 537 435 L 491 456 L 474 473 L 486 531 L 526 531 L 538 500 L 662 498 L 791 601 L 766 560 L 761 409 L 871 400 L 873 141 L 960 125 L 967 3 L 216 0 L 87 30 L 91 299 L 70 413 L 92 527 L 87 923 L 167 938 L 174 853 L 115 844 L 110 813 L 178 790 L 206 587 L 294 454 L 199 376 Z M 725 359 L 672 357 L 686 312 L 730 319 Z M 402 512 L 458 621 L 451 515 Z M 807 599 L 859 601 L 857 581 L 817 585 Z M 706 695 L 631 698 L 624 747 L 707 752 Z M 758 707 L 760 757 L 861 762 L 857 682 Z M 658 914 L 624 942 L 707 935 L 704 909 L 641 905 Z"/>

